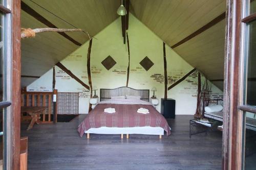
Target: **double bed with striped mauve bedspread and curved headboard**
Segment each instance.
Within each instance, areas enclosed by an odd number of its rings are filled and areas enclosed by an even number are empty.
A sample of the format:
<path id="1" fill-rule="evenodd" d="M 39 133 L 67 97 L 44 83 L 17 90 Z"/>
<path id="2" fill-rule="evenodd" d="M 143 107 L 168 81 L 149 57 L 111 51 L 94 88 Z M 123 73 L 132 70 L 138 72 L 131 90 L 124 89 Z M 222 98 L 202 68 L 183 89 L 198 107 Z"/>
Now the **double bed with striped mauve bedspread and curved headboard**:
<path id="1" fill-rule="evenodd" d="M 111 99 L 112 96 L 134 95 L 139 99 Z M 115 108 L 115 113 L 105 113 L 105 108 Z M 149 111 L 138 113 L 139 108 Z M 129 134 L 159 135 L 159 138 L 170 134 L 166 119 L 149 102 L 149 90 L 136 90 L 130 87 L 100 89 L 100 102 L 78 126 L 79 135 L 84 133 L 90 138 L 96 134 Z"/>

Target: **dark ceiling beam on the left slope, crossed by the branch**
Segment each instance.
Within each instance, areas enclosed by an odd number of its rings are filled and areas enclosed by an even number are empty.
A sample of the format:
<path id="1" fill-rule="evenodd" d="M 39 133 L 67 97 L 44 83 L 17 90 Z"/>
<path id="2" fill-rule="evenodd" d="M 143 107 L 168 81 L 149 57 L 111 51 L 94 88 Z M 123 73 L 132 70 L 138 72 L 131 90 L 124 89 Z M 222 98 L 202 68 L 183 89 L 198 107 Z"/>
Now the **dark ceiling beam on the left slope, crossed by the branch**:
<path id="1" fill-rule="evenodd" d="M 44 25 L 48 26 L 49 28 L 57 28 L 52 22 L 50 22 L 49 20 L 47 20 L 45 17 L 41 16 L 38 12 L 36 12 L 35 10 L 33 10 L 31 7 L 29 7 L 27 4 L 25 4 L 22 1 L 22 10 L 27 12 L 29 15 L 33 16 L 35 19 L 37 19 L 38 21 L 44 23 Z M 64 32 L 57 32 L 58 34 L 60 34 L 61 36 L 67 38 L 68 40 L 70 40 L 71 42 L 73 42 L 74 44 L 81 46 L 82 44 L 80 42 L 77 42 L 76 40 L 74 40 L 73 38 L 71 38 L 70 36 L 68 36 L 66 33 Z"/>

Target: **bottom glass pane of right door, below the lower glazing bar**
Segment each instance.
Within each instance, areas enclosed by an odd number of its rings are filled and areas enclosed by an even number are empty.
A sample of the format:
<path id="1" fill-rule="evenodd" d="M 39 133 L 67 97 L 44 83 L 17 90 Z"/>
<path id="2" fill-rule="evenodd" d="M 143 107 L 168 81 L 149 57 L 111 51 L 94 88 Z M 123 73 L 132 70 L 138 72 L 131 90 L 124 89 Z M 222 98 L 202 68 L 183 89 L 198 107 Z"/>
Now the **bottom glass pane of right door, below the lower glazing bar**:
<path id="1" fill-rule="evenodd" d="M 256 115 L 246 113 L 246 130 L 245 130 L 245 169 L 256 169 Z"/>

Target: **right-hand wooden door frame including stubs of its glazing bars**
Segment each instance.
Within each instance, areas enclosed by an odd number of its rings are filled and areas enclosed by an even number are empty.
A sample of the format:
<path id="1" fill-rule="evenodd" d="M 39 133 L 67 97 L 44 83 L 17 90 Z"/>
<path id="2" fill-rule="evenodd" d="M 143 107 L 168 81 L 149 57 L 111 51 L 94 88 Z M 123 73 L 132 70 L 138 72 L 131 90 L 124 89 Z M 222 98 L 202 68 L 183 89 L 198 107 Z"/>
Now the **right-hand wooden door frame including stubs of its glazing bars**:
<path id="1" fill-rule="evenodd" d="M 256 13 L 248 13 L 249 0 L 227 0 L 224 115 L 222 140 L 222 169 L 244 169 L 246 111 L 256 113 L 256 107 L 245 101 L 248 45 L 247 24 L 256 20 Z"/>

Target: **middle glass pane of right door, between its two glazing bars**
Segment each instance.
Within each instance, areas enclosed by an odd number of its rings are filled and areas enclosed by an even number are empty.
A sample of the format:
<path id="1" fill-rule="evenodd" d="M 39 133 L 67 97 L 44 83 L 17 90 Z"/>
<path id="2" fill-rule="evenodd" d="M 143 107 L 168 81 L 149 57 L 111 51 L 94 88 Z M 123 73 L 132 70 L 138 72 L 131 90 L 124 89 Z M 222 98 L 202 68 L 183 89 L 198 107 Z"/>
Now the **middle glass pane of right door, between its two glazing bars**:
<path id="1" fill-rule="evenodd" d="M 256 2 L 256 1 L 255 1 Z M 256 106 L 256 21 L 248 23 L 248 68 L 246 103 Z"/>

